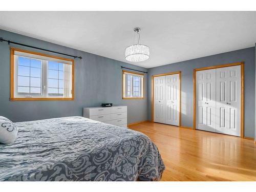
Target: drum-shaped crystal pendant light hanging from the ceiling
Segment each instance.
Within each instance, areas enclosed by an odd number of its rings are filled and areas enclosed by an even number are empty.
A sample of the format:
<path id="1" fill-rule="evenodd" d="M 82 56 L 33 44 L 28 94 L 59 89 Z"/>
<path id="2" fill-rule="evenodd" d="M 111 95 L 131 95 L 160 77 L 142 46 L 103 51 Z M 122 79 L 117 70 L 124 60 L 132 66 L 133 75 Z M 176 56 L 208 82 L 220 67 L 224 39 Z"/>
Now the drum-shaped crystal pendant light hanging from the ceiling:
<path id="1" fill-rule="evenodd" d="M 139 62 L 150 58 L 150 48 L 145 45 L 140 45 L 140 28 L 135 28 L 134 31 L 138 35 L 137 45 L 131 45 L 125 49 L 125 59 L 127 61 Z"/>

